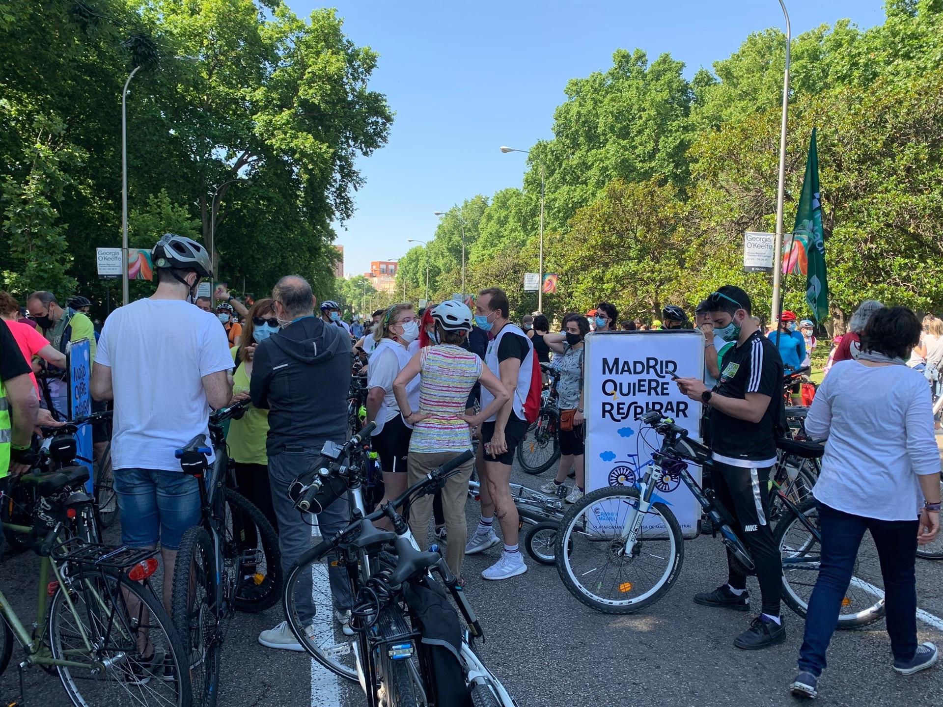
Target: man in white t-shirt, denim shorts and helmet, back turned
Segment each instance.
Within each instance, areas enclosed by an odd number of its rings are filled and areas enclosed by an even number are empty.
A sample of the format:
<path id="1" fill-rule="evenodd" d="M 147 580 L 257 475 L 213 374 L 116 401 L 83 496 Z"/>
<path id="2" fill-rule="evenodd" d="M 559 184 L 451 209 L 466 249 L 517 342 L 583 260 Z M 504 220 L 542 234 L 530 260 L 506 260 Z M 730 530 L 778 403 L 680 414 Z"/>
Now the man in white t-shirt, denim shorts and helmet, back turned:
<path id="1" fill-rule="evenodd" d="M 233 361 L 216 315 L 192 304 L 201 278 L 212 276 L 206 248 L 166 234 L 151 259 L 157 291 L 105 321 L 91 395 L 114 401 L 111 462 L 122 543 L 159 542 L 169 610 L 180 537 L 200 522 L 199 486 L 174 451 L 197 435 L 208 442 L 210 407 L 232 396 Z"/>

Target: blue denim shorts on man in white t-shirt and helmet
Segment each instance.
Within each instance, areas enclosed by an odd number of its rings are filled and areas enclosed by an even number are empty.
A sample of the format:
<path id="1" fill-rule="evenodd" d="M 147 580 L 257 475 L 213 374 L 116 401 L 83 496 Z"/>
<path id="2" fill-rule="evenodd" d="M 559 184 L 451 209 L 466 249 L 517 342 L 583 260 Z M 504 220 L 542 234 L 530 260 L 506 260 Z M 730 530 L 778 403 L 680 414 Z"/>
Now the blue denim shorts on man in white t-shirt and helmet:
<path id="1" fill-rule="evenodd" d="M 121 508 L 121 541 L 130 548 L 160 543 L 180 547 L 190 526 L 200 524 L 200 486 L 183 471 L 115 469 L 115 494 Z"/>

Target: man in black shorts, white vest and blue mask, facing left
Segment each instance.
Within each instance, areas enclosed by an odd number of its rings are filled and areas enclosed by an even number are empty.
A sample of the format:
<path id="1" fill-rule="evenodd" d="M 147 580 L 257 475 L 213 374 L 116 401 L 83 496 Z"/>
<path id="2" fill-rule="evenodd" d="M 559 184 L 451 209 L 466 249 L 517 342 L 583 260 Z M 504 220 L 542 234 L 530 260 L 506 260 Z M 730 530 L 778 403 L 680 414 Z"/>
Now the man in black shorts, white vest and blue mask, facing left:
<path id="1" fill-rule="evenodd" d="M 478 447 L 478 455 L 484 460 L 484 465 L 478 464 L 478 469 L 485 471 L 481 485 L 481 520 L 465 547 L 465 553 L 486 551 L 498 544 L 493 528 L 497 514 L 505 536 L 505 549 L 501 559 L 481 576 L 486 580 L 506 580 L 527 571 L 518 547 L 518 509 L 511 498 L 510 478 L 514 452 L 527 432 L 523 403 L 530 390 L 534 344 L 519 326 L 508 321 L 507 295 L 503 289 L 488 288 L 478 293 L 474 319 L 478 327 L 490 336 L 485 365 L 512 395 L 497 415 L 481 428 L 482 444 Z M 492 400 L 493 396 L 483 388 L 482 409 Z"/>

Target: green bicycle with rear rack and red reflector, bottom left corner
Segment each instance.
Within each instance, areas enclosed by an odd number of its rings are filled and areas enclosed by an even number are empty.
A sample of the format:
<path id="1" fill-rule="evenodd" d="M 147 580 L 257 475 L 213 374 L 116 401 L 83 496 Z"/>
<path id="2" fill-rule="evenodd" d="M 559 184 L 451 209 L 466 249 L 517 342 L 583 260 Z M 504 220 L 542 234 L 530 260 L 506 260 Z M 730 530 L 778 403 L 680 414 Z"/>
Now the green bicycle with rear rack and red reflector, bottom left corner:
<path id="1" fill-rule="evenodd" d="M 38 502 L 31 526 L 4 523 L 28 534 L 41 557 L 39 600 L 27 631 L 0 592 L 0 673 L 13 639 L 25 652 L 19 664 L 20 699 L 25 669 L 54 670 L 76 707 L 175 705 L 190 707 L 184 651 L 149 578 L 156 551 L 111 548 L 97 542 L 89 471 L 69 467 L 33 475 Z M 173 676 L 160 675 L 171 666 Z"/>

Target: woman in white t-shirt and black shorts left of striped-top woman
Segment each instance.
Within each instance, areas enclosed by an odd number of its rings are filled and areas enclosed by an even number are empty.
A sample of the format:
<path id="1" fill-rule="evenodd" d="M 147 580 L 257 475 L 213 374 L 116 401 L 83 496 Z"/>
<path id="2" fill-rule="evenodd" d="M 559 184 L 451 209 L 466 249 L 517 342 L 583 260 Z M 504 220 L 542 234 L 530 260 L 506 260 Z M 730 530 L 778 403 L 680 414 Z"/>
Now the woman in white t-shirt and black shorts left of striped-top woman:
<path id="1" fill-rule="evenodd" d="M 373 328 L 375 342 L 367 368 L 367 422 L 376 422 L 373 451 L 380 457 L 384 495 L 380 503 L 395 499 L 406 489 L 406 455 L 412 428 L 406 424 L 393 395 L 393 381 L 412 357 L 408 346 L 419 336 L 419 323 L 412 304 L 393 304 Z M 419 409 L 417 376 L 406 389 Z M 382 523 L 378 523 L 382 524 Z"/>

